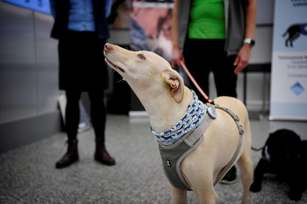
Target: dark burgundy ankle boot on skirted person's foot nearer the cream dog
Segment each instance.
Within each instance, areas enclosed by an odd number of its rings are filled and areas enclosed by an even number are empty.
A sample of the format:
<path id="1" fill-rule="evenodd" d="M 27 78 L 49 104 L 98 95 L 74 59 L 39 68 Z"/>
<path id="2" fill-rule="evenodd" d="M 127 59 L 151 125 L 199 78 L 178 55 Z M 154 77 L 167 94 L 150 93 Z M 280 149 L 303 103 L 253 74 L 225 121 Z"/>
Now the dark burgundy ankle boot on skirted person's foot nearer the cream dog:
<path id="1" fill-rule="evenodd" d="M 106 151 L 104 138 L 96 138 L 95 160 L 101 162 L 102 164 L 115 164 L 115 160 Z"/>

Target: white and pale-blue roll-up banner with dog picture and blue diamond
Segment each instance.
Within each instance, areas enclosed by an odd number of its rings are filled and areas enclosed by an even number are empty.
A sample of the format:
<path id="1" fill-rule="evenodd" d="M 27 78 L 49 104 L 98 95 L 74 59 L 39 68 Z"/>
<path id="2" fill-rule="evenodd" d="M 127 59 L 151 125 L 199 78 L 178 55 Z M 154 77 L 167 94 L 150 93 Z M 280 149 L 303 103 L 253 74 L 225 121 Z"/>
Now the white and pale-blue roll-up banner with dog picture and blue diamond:
<path id="1" fill-rule="evenodd" d="M 307 120 L 307 0 L 275 0 L 269 119 Z"/>

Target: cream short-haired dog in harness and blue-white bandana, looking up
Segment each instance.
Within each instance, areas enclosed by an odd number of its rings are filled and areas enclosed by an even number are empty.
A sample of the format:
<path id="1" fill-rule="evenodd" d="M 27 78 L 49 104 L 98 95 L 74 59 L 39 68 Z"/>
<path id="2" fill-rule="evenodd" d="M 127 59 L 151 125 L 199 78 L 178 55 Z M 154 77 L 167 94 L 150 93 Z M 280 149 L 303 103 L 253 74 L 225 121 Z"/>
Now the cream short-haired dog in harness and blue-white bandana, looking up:
<path id="1" fill-rule="evenodd" d="M 145 107 L 151 125 L 157 132 L 173 127 L 185 114 L 192 101 L 192 92 L 184 86 L 182 77 L 171 65 L 153 52 L 132 52 L 107 43 L 106 62 L 127 81 Z M 251 161 L 251 133 L 247 110 L 242 102 L 232 97 L 218 97 L 215 104 L 227 107 L 240 118 L 244 127 L 242 147 L 237 162 L 243 181 L 242 203 L 248 203 L 253 177 Z M 216 203 L 218 195 L 213 183 L 236 151 L 239 131 L 234 119 L 217 109 L 218 117 L 203 134 L 201 144 L 180 164 L 185 180 L 193 189 L 199 203 Z M 195 165 L 196 164 L 196 165 Z M 186 203 L 187 192 L 170 184 L 173 203 Z"/>

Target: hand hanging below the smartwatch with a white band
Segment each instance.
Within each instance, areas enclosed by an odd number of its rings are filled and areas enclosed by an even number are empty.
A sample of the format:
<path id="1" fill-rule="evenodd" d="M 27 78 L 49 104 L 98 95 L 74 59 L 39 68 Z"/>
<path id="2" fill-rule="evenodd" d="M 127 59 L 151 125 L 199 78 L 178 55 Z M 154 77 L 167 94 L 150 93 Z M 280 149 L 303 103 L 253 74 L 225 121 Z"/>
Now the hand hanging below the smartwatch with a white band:
<path id="1" fill-rule="evenodd" d="M 236 60 L 233 63 L 233 65 L 236 66 L 234 70 L 235 74 L 240 73 L 247 66 L 249 62 L 251 50 L 252 50 L 252 47 L 249 44 L 244 43 L 242 45 L 242 47 L 240 48 L 237 54 Z"/>

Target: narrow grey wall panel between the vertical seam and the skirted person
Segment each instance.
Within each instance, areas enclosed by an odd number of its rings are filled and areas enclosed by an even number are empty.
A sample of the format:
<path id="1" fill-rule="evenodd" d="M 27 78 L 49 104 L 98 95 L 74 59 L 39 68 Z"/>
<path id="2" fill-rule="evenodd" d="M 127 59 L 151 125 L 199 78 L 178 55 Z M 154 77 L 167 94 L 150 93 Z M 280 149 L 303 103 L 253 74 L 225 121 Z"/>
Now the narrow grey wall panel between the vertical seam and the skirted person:
<path id="1" fill-rule="evenodd" d="M 50 37 L 53 25 L 51 15 L 34 13 L 37 70 L 37 112 L 45 114 L 57 110 L 58 40 Z"/>

